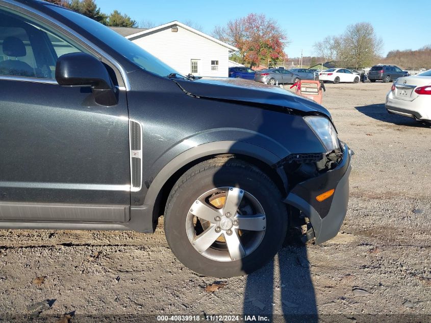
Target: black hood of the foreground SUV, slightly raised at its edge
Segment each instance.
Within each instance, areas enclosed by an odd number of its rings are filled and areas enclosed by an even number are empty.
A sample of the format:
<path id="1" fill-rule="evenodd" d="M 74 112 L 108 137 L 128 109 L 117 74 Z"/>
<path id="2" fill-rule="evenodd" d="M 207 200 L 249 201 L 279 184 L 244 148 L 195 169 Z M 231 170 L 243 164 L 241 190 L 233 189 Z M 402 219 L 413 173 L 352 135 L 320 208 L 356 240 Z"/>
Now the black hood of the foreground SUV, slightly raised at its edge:
<path id="1" fill-rule="evenodd" d="M 184 91 L 195 96 L 232 101 L 256 103 L 259 107 L 278 107 L 299 114 L 331 114 L 321 105 L 277 86 L 234 78 L 208 78 L 195 81 L 175 80 Z M 270 107 L 269 107 L 270 106 Z"/>

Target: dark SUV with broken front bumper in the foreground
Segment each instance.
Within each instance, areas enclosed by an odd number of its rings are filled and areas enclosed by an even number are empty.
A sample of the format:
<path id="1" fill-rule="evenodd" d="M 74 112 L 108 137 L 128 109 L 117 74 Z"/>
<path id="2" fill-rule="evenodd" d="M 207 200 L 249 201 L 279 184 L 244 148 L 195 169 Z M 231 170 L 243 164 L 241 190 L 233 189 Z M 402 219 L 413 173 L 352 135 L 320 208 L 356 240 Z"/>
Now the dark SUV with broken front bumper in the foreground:
<path id="1" fill-rule="evenodd" d="M 313 101 L 182 76 L 44 2 L 0 1 L 0 41 L 0 228 L 151 233 L 164 215 L 176 257 L 218 277 L 340 229 L 351 151 Z"/>

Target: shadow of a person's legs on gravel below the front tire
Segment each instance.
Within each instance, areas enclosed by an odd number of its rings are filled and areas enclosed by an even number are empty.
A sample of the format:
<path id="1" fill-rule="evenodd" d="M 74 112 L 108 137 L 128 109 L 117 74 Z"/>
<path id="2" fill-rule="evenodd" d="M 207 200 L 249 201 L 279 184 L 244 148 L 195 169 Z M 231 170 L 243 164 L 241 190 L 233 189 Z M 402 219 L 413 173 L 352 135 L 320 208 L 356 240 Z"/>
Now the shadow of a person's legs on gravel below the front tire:
<path id="1" fill-rule="evenodd" d="M 247 276 L 243 315 L 266 315 L 273 322 L 317 323 L 310 266 L 305 245 L 281 249 L 274 261 Z M 280 270 L 280 282 L 274 284 L 275 269 Z M 275 300 L 280 300 L 277 307 L 282 308 L 283 315 L 273 313 L 275 302 L 278 303 Z"/>

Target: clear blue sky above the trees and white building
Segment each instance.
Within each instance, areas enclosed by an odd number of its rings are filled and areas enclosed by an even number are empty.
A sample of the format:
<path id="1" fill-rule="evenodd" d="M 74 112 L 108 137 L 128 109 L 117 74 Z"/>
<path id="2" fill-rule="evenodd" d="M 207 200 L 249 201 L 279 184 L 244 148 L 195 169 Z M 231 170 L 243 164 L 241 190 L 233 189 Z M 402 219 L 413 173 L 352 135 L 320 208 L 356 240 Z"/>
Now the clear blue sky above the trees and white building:
<path id="1" fill-rule="evenodd" d="M 103 12 L 118 9 L 138 22 L 150 20 L 162 24 L 192 20 L 207 34 L 211 34 L 217 24 L 223 26 L 251 12 L 264 13 L 277 20 L 286 32 L 291 41 L 285 48 L 289 57 L 299 57 L 301 49 L 303 56 L 313 56 L 316 41 L 327 35 L 341 34 L 348 24 L 361 21 L 371 22 L 377 36 L 382 37 L 384 56 L 392 49 L 418 49 L 431 44 L 429 0 L 96 0 L 96 3 Z"/>

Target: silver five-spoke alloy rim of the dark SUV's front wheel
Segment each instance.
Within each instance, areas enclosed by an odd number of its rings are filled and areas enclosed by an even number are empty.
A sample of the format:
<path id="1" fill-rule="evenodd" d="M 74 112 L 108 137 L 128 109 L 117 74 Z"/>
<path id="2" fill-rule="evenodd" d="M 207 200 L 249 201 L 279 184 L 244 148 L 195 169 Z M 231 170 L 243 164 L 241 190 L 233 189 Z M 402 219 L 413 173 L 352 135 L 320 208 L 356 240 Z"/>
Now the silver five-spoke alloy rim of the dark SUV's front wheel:
<path id="1" fill-rule="evenodd" d="M 260 245 L 266 216 L 250 193 L 237 187 L 220 187 L 196 199 L 185 224 L 190 243 L 201 255 L 216 261 L 235 261 Z"/>

